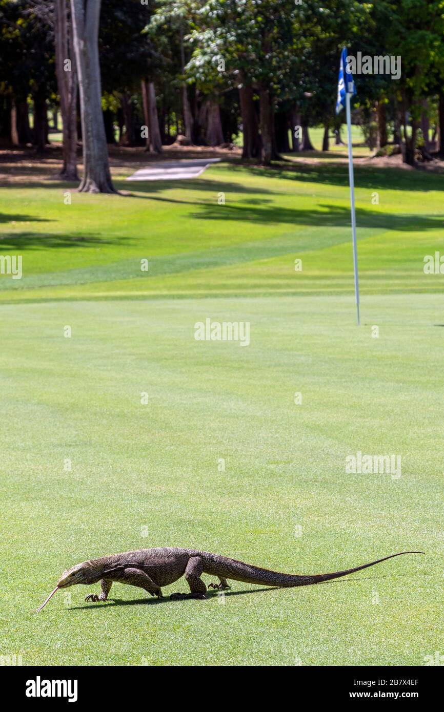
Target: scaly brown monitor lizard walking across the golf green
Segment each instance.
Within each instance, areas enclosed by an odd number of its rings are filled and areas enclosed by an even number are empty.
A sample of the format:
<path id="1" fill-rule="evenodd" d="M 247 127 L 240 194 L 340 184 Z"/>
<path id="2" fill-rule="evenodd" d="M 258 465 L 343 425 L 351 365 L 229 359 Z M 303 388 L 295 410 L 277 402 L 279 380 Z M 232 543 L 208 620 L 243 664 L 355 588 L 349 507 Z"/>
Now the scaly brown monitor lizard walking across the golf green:
<path id="1" fill-rule="evenodd" d="M 209 554 L 205 551 L 194 549 L 138 549 L 137 551 L 113 554 L 77 564 L 63 573 L 58 580 L 57 588 L 67 588 L 75 584 L 90 585 L 100 581 L 102 589 L 100 595 L 90 594 L 86 597 L 86 601 L 105 601 L 113 581 L 117 581 L 118 583 L 143 588 L 152 596 L 162 597 L 163 586 L 169 586 L 185 575 L 190 587 L 190 593 L 173 593 L 171 597 L 205 598 L 207 587 L 200 578 L 202 573 L 218 577 L 220 583 L 210 584 L 210 587 L 217 589 L 229 588 L 227 579 L 261 586 L 307 586 L 346 576 L 355 571 L 366 569 L 368 566 L 378 564 L 381 561 L 391 559 L 394 556 L 422 553 L 420 551 L 403 551 L 345 571 L 314 576 L 298 576 L 269 571 L 268 569 L 244 564 L 242 561 L 229 559 L 225 556 Z"/>

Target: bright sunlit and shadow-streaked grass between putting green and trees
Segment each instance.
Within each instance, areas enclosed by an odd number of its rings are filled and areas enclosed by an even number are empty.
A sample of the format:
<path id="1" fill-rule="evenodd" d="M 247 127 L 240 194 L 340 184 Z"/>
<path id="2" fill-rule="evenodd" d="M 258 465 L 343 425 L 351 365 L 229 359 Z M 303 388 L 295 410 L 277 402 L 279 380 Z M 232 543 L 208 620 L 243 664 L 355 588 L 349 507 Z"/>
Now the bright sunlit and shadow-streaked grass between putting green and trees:
<path id="1" fill-rule="evenodd" d="M 4 189 L 1 251 L 23 255 L 24 277 L 2 278 L 0 300 L 353 289 L 346 165 L 221 164 L 195 180 L 116 184 L 131 197 Z M 442 288 L 423 271 L 444 246 L 442 186 L 440 174 L 356 169 L 364 294 Z"/>

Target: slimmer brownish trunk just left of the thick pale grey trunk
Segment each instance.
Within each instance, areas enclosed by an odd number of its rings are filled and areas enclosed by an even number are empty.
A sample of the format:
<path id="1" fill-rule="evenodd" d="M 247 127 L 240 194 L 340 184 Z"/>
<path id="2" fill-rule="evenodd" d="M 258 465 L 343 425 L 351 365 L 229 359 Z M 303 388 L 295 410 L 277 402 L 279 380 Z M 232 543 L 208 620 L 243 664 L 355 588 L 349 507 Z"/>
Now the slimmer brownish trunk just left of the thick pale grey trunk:
<path id="1" fill-rule="evenodd" d="M 54 2 L 56 75 L 63 131 L 63 167 L 60 177 L 78 180 L 77 173 L 77 70 L 73 52 L 72 22 L 68 21 L 66 0 Z M 71 64 L 71 66 L 69 66 Z M 57 112 L 55 112 L 57 124 Z"/>

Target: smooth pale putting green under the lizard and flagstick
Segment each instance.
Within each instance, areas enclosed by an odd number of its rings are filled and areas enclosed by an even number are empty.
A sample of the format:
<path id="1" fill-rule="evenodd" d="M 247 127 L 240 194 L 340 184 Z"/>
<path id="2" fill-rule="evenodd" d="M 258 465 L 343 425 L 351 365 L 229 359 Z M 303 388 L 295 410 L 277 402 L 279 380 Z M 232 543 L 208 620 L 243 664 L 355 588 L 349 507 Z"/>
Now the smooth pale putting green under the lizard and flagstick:
<path id="1" fill-rule="evenodd" d="M 2 650 L 24 664 L 423 664 L 442 639 L 442 307 L 369 296 L 358 329 L 346 297 L 5 305 Z M 248 320 L 250 345 L 196 341 L 206 317 Z M 401 477 L 346 474 L 357 451 L 400 455 Z M 98 586 L 73 587 L 33 612 L 65 567 L 153 545 L 301 573 L 426 555 L 293 590 L 234 582 L 206 602 L 115 584 L 86 604 Z"/>

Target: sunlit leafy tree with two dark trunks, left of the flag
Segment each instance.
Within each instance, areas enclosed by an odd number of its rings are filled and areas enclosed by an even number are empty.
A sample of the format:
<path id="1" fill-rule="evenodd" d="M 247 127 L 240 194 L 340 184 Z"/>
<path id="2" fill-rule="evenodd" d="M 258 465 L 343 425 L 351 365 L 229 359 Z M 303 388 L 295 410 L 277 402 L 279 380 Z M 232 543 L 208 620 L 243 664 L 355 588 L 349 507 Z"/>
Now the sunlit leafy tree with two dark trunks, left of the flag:
<path id="1" fill-rule="evenodd" d="M 254 95 L 259 97 L 260 155 L 264 164 L 277 157 L 274 109 L 277 96 L 297 63 L 292 0 L 207 0 L 193 16 L 188 38 L 195 46 L 187 70 L 200 83 L 214 79 L 236 85 L 240 93 L 244 155 L 259 153 Z M 215 66 L 223 63 L 217 80 Z M 285 89 L 286 91 L 286 89 Z"/>

